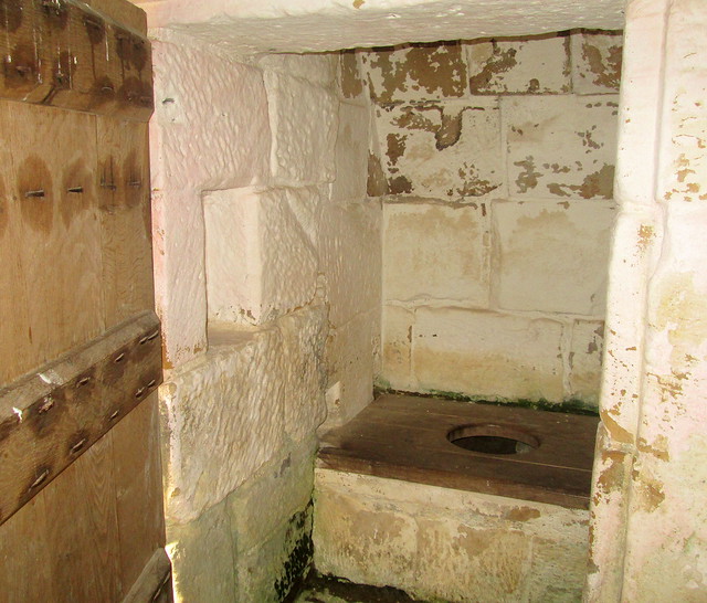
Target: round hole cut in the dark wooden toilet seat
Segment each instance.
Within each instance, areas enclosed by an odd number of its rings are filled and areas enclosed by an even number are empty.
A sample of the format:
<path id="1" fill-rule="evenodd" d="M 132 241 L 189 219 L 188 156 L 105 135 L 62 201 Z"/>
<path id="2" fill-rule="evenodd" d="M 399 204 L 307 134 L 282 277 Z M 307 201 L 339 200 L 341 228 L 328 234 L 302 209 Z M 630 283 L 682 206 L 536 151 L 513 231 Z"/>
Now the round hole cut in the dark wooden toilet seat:
<path id="1" fill-rule="evenodd" d="M 455 427 L 446 438 L 460 448 L 482 454 L 523 454 L 540 445 L 540 441 L 528 433 L 490 423 Z"/>

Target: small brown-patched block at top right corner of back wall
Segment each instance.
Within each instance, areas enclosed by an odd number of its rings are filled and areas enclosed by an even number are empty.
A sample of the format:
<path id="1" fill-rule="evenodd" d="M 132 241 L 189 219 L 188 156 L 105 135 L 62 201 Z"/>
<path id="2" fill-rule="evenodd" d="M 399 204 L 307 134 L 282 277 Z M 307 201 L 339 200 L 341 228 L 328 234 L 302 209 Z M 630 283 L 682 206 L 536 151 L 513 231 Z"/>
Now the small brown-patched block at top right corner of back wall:
<path id="1" fill-rule="evenodd" d="M 576 94 L 618 93 L 623 33 L 580 30 L 572 39 L 572 89 Z"/>

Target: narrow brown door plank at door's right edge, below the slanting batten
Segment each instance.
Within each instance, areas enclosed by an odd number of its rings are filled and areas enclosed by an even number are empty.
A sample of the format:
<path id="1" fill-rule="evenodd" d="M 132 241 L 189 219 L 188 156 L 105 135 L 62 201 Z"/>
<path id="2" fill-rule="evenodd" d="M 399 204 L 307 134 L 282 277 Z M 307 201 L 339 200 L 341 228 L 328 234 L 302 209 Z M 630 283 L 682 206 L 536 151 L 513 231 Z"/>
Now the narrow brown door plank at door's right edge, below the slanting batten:
<path id="1" fill-rule="evenodd" d="M 165 546 L 157 393 L 130 412 L 112 433 L 120 580 L 123 591 L 128 592 L 155 550 Z"/>

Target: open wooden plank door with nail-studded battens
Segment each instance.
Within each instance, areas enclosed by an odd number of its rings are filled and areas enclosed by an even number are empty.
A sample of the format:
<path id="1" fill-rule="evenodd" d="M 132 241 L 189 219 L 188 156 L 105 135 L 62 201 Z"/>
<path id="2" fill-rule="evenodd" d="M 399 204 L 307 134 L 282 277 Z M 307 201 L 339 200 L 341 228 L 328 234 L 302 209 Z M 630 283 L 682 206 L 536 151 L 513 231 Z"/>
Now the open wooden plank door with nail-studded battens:
<path id="1" fill-rule="evenodd" d="M 0 602 L 171 590 L 146 31 L 126 0 L 0 0 Z"/>

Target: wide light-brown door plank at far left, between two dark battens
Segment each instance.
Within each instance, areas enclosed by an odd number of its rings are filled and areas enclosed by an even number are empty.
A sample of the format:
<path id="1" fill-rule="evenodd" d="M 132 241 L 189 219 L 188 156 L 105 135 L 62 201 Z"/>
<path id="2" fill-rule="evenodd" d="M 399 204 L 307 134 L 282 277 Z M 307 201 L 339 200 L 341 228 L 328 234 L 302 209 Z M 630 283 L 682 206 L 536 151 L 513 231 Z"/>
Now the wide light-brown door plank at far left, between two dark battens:
<path id="1" fill-rule="evenodd" d="M 9 338 L 0 383 L 105 330 L 95 119 L 0 100 L 0 128 L 13 151 L 0 170 L 15 205 L 3 235 L 14 244 L 3 250 L 12 276 L 0 302 L 15 324 L 1 327 Z"/>

